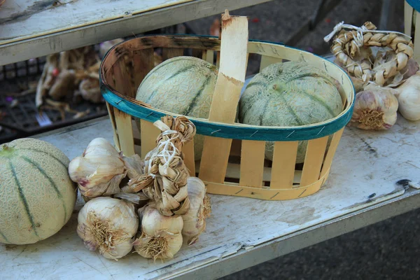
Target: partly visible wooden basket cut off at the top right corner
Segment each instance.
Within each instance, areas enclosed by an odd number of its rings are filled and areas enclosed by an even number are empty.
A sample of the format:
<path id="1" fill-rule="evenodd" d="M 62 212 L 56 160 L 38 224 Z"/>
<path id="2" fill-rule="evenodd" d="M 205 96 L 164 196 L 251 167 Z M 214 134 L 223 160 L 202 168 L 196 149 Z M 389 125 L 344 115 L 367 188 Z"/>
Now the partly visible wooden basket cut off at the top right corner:
<path id="1" fill-rule="evenodd" d="M 420 64 L 420 43 L 416 44 L 416 37 L 420 38 L 420 1 L 405 0 L 404 2 L 404 33 L 412 36 L 414 43 L 413 58 Z M 414 22 L 415 20 L 415 22 Z M 414 24 L 415 23 L 415 24 Z"/>

